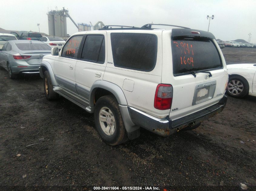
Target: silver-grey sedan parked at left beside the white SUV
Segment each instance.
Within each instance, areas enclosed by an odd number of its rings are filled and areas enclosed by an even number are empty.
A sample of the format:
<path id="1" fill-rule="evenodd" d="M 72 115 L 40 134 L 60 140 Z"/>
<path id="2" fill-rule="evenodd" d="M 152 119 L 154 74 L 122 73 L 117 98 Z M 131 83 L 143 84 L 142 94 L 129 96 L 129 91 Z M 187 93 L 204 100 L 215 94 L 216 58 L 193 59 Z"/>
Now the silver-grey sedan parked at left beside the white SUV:
<path id="1" fill-rule="evenodd" d="M 15 79 L 19 73 L 39 73 L 39 64 L 51 47 L 37 40 L 10 40 L 0 49 L 0 67 Z"/>

